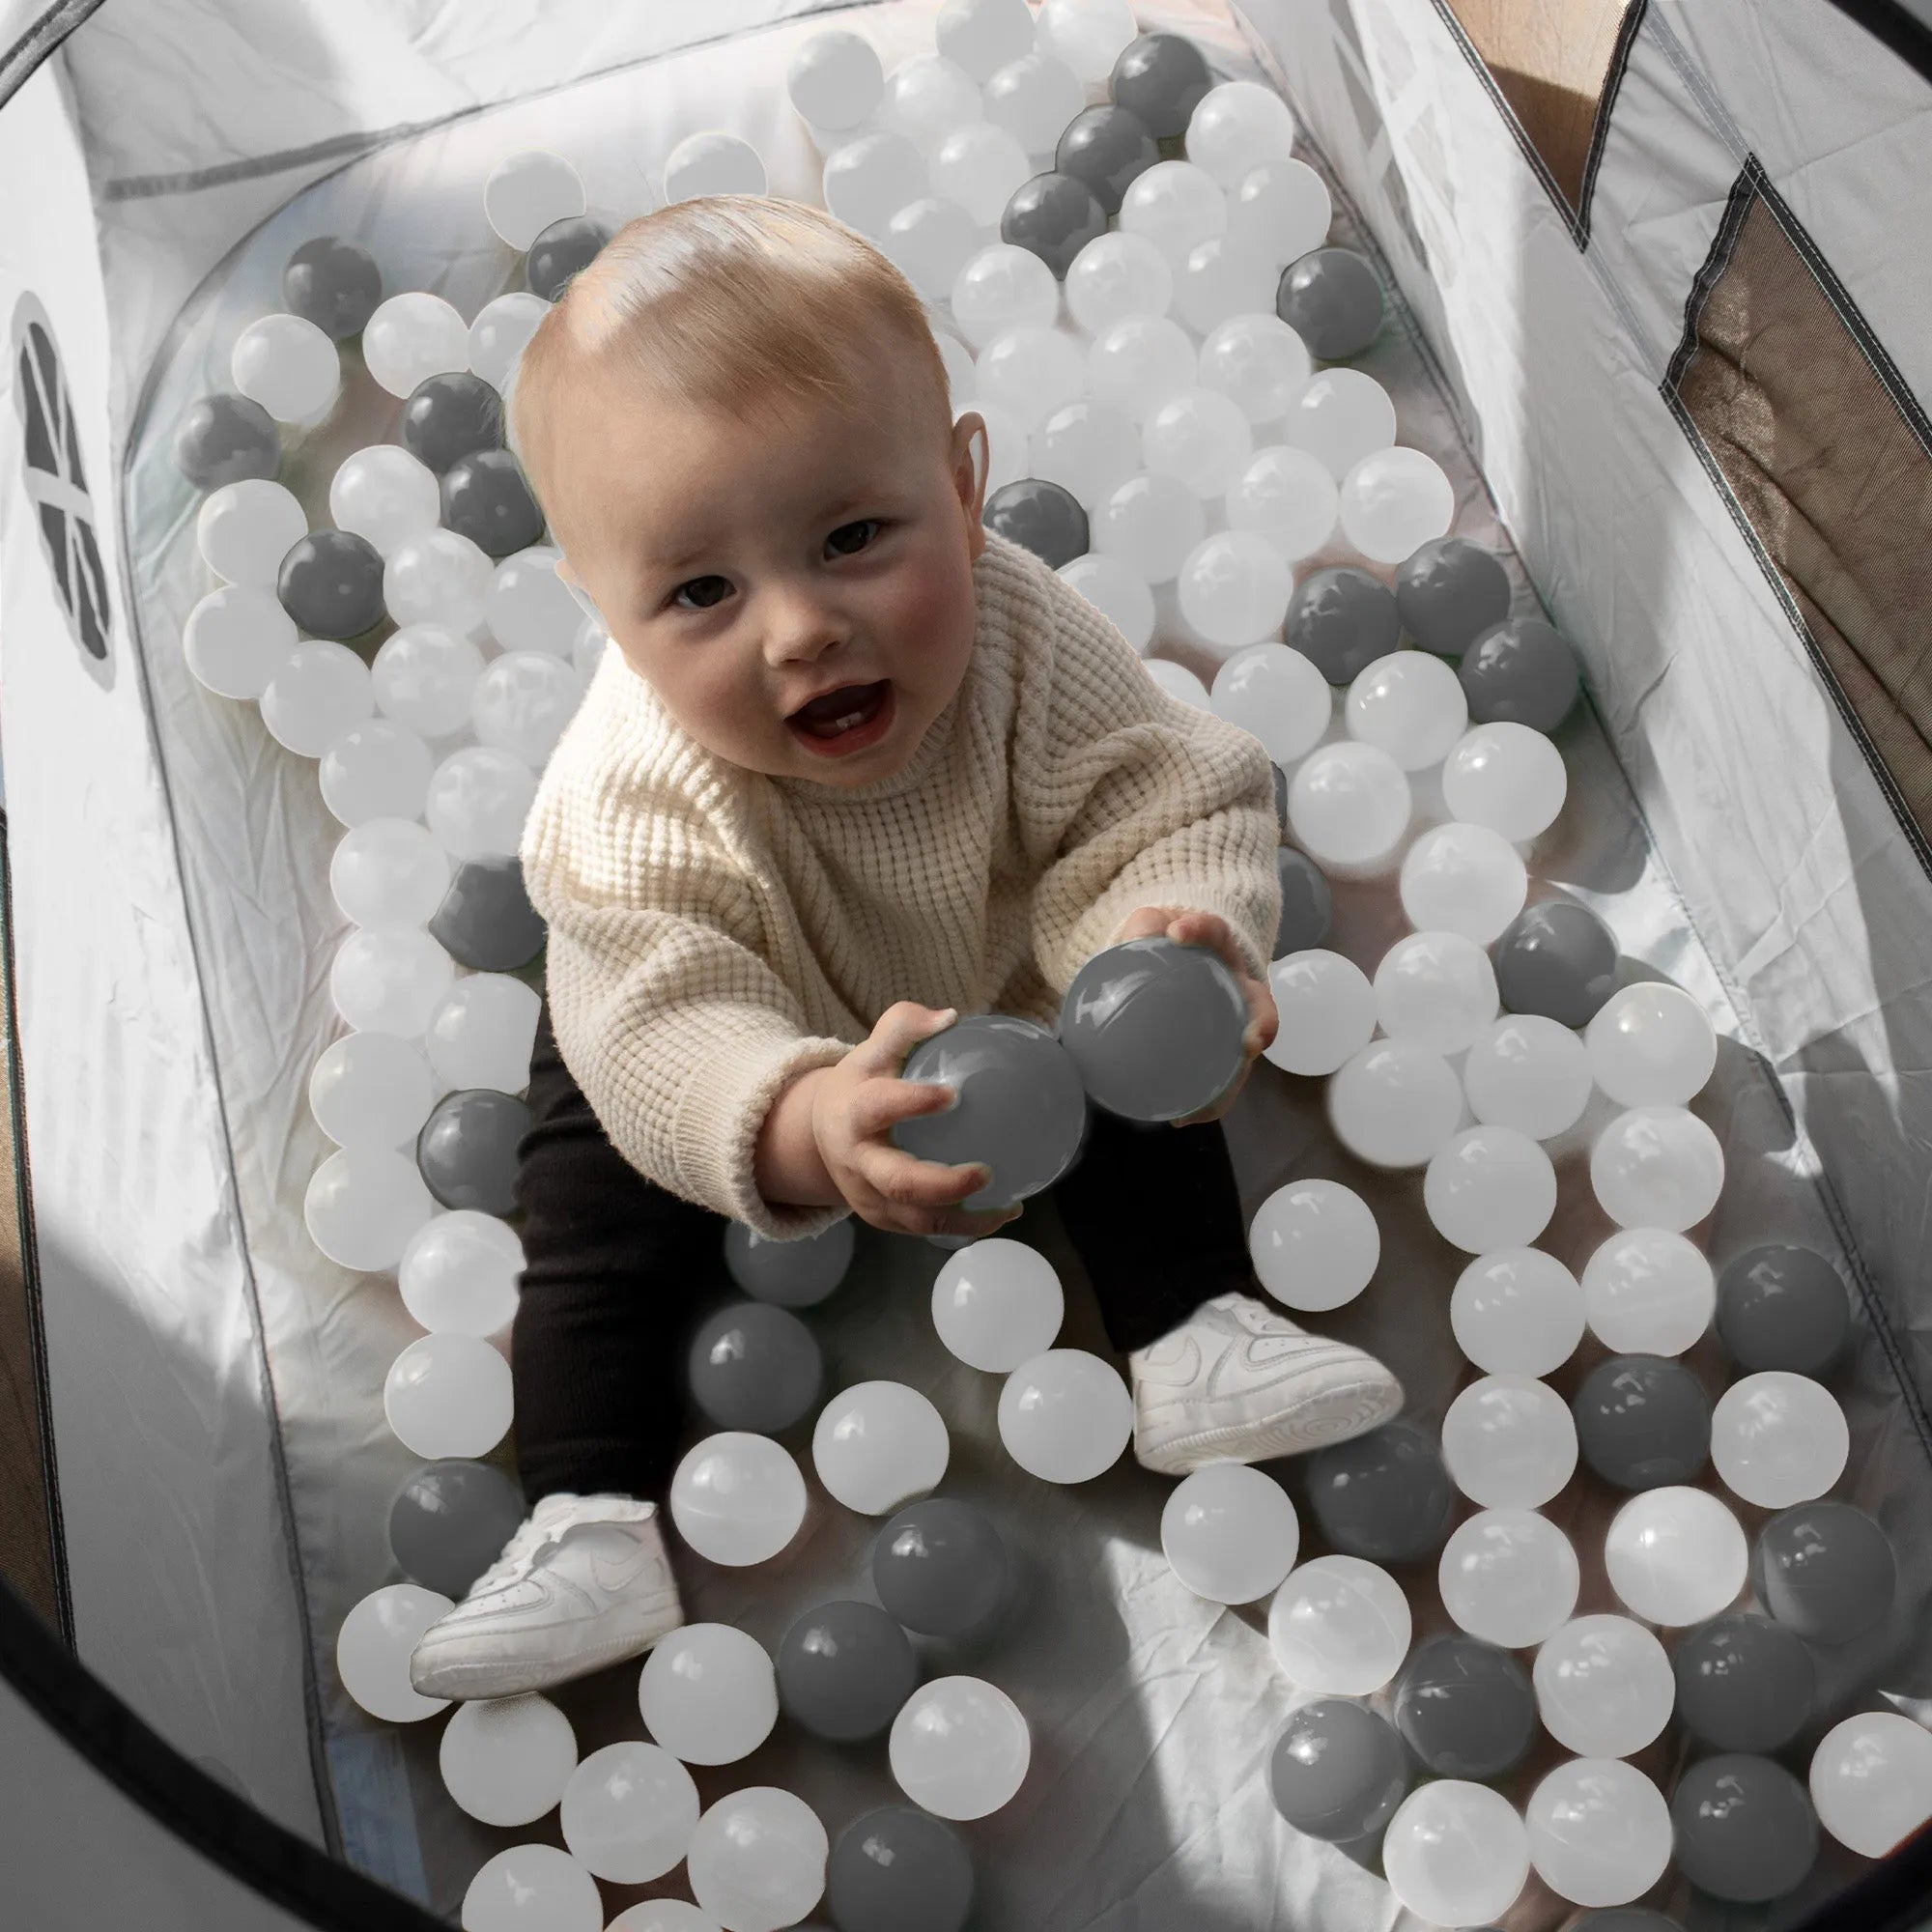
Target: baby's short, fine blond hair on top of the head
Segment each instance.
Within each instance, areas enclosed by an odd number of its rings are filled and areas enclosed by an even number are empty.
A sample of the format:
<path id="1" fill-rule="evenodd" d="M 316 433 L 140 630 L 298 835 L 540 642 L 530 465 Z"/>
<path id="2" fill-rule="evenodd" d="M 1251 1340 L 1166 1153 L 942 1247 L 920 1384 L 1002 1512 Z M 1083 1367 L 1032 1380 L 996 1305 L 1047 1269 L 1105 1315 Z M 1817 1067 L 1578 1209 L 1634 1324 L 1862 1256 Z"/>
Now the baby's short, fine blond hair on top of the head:
<path id="1" fill-rule="evenodd" d="M 864 354 L 881 334 L 910 350 L 951 433 L 925 305 L 871 242 L 777 195 L 674 201 L 626 222 L 537 323 L 506 396 L 510 450 L 568 554 L 595 512 L 558 462 L 562 384 L 636 383 L 742 421 L 808 400 L 871 413 L 895 394 Z"/>

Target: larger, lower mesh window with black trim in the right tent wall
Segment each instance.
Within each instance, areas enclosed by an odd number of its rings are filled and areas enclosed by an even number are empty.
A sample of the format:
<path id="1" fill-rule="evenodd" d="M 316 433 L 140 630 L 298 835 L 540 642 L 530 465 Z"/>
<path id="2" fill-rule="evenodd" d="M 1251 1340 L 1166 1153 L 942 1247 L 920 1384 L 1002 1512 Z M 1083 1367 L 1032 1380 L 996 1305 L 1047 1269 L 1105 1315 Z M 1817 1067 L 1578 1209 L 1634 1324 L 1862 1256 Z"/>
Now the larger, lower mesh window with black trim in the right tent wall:
<path id="1" fill-rule="evenodd" d="M 1932 858 L 1932 425 L 1756 158 L 1663 394 Z"/>

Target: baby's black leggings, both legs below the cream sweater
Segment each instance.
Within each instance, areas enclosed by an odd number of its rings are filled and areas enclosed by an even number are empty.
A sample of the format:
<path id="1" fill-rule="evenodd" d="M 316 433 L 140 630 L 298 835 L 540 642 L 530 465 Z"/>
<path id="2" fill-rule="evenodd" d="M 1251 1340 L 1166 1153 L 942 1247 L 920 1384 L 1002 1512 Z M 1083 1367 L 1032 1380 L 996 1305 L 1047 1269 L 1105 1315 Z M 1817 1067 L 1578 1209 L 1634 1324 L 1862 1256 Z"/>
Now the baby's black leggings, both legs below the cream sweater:
<path id="1" fill-rule="evenodd" d="M 531 1122 L 518 1144 L 524 1273 L 510 1331 L 516 1453 L 529 1503 L 556 1490 L 663 1497 L 686 1424 L 684 1345 L 736 1293 L 726 1219 L 647 1180 L 611 1146 L 537 1020 Z M 1254 1293 L 1219 1121 L 1142 1126 L 1099 1107 L 1053 1188 L 1126 1354 L 1229 1291 Z"/>

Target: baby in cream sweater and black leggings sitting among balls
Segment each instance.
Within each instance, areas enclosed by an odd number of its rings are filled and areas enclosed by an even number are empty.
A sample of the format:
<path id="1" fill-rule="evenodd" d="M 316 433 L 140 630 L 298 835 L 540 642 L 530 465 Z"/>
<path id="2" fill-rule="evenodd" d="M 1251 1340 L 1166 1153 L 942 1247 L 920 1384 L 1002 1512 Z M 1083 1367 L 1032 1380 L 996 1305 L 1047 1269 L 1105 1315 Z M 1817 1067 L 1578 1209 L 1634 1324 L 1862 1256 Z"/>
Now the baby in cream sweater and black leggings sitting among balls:
<path id="1" fill-rule="evenodd" d="M 1014 1219 L 962 1206 L 985 1165 L 895 1148 L 952 1099 L 900 1068 L 956 1012 L 1051 1030 L 1124 939 L 1211 949 L 1250 1009 L 1213 1105 L 1180 1132 L 1090 1109 L 1057 1182 L 1136 1459 L 1182 1476 L 1389 1420 L 1387 1368 L 1250 1293 L 1213 1124 L 1277 1024 L 1265 750 L 983 526 L 985 423 L 952 421 L 900 272 L 800 203 L 647 214 L 539 325 L 510 440 L 614 649 L 522 846 L 549 922 L 512 1333 L 533 1507 L 417 1644 L 415 1689 L 537 1690 L 682 1623 L 657 1511 L 726 1223 Z"/>

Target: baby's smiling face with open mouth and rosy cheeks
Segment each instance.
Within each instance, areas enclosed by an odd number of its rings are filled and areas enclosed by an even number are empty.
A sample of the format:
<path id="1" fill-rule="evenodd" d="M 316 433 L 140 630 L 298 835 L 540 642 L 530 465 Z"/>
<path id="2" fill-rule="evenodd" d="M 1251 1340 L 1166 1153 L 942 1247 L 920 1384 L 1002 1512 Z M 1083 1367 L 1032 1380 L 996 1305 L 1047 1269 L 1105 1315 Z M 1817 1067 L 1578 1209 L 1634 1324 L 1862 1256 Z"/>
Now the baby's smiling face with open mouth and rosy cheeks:
<path id="1" fill-rule="evenodd" d="M 972 655 L 983 425 L 966 415 L 943 437 L 902 354 L 867 379 L 889 404 L 877 419 L 794 402 L 746 425 L 653 394 L 585 396 L 566 439 L 599 516 L 574 562 L 618 649 L 705 750 L 769 777 L 891 777 Z M 788 723 L 831 686 L 881 680 L 883 711 L 842 752 Z"/>

